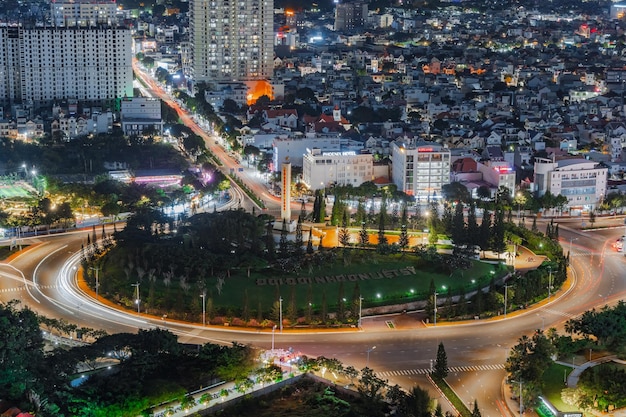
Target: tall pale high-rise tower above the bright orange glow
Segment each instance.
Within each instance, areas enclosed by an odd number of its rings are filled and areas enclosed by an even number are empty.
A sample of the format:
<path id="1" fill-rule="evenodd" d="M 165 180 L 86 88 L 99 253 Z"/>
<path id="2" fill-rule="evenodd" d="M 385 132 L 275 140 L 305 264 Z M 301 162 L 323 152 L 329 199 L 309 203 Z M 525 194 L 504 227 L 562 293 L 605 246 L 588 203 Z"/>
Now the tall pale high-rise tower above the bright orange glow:
<path id="1" fill-rule="evenodd" d="M 189 12 L 194 82 L 272 76 L 273 0 L 191 0 Z"/>

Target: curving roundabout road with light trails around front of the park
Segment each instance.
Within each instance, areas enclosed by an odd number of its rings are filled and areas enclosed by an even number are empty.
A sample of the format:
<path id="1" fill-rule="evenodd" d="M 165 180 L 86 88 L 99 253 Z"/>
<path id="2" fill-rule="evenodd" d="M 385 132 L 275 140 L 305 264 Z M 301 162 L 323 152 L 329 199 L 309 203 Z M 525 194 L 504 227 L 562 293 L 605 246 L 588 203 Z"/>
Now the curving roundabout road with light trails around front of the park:
<path id="1" fill-rule="evenodd" d="M 81 243 L 86 243 L 89 233 L 90 230 L 27 239 L 37 245 L 8 265 L 0 264 L 0 300 L 19 299 L 43 315 L 110 333 L 165 327 L 185 343 L 238 341 L 264 349 L 271 347 L 271 332 L 203 329 L 199 325 L 120 312 L 86 297 L 75 285 L 74 267 Z M 504 363 L 509 348 L 520 336 L 540 328 L 562 329 L 565 321 L 581 312 L 624 297 L 624 256 L 612 247 L 622 234 L 621 227 L 582 232 L 562 223 L 560 235 L 566 251 L 572 239 L 572 287 L 545 305 L 510 313 L 506 319 L 425 327 L 418 314 L 373 317 L 363 320 L 363 331 L 277 332 L 276 347 L 293 347 L 309 356 L 336 357 L 357 369 L 365 366 L 369 350 L 371 368 L 391 383 L 409 388 L 415 383 L 427 386 L 424 373 L 430 369 L 441 341 L 451 368 L 448 381 L 459 396 L 468 404 L 477 399 L 485 417 L 500 416 Z M 388 320 L 398 325 L 390 329 L 385 325 Z"/>

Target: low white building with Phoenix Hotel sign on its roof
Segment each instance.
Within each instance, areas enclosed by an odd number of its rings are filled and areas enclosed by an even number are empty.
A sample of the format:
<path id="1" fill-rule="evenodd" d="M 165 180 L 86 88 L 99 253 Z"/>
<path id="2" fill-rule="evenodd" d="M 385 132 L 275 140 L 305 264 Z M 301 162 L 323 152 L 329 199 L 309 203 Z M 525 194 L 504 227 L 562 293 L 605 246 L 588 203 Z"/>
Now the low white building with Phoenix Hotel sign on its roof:
<path id="1" fill-rule="evenodd" d="M 327 152 L 307 149 L 302 162 L 302 180 L 312 190 L 330 184 L 358 187 L 374 180 L 372 154 L 355 151 Z"/>

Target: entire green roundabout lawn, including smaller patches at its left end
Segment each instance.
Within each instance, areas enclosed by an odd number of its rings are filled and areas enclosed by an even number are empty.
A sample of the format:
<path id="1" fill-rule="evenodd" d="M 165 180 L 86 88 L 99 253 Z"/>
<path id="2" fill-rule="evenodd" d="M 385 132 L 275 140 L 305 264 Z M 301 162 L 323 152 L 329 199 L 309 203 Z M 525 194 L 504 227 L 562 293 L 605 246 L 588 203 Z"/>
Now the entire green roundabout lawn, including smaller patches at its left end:
<path id="1" fill-rule="evenodd" d="M 119 266 L 109 264 L 101 274 L 101 294 L 112 299 L 115 297 L 111 294 L 125 294 L 117 301 L 133 308 L 133 288 L 127 285 L 124 272 L 121 269 L 114 271 L 114 268 Z M 281 274 L 264 268 L 250 269 L 249 272 L 247 268 L 233 268 L 230 276 L 206 277 L 205 282 L 207 301 L 216 316 L 238 317 L 243 311 L 248 311 L 251 318 L 257 318 L 259 311 L 263 318 L 277 316 L 277 301 L 282 298 L 284 314 L 288 314 L 294 304 L 296 315 L 304 317 L 309 303 L 313 316 L 320 315 L 324 304 L 327 312 L 333 313 L 338 311 L 339 301 L 345 299 L 345 311 L 352 310 L 355 317 L 359 296 L 363 297 L 362 308 L 425 300 L 430 295 L 432 279 L 438 296 L 443 299 L 448 290 L 453 295 L 457 295 L 461 288 L 469 293 L 487 287 L 492 277 L 498 278 L 506 273 L 506 267 L 472 261 L 469 269 L 450 274 L 435 270 L 432 263 L 408 252 L 403 256 L 353 250 L 344 261 L 342 251 L 338 250 L 334 262 L 311 269 L 305 267 L 299 274 Z M 92 287 L 94 279 L 90 276 L 88 280 Z M 198 292 L 182 289 L 179 285 L 166 286 L 160 279 L 142 285 L 141 297 L 153 313 L 167 312 L 174 317 L 176 311 L 179 314 L 176 318 L 197 320 L 202 312 Z M 270 314 L 273 309 L 276 311 Z"/>

